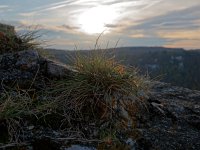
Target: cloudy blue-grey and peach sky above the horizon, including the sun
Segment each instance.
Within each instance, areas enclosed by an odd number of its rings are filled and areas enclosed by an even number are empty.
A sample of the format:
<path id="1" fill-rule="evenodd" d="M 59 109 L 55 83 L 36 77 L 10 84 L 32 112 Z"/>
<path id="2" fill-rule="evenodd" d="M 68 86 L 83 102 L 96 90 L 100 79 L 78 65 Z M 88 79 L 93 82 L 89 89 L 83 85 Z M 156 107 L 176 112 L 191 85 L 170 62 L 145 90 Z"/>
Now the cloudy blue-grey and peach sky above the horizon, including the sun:
<path id="1" fill-rule="evenodd" d="M 47 47 L 200 48 L 200 0 L 0 0 L 0 22 L 36 28 Z"/>

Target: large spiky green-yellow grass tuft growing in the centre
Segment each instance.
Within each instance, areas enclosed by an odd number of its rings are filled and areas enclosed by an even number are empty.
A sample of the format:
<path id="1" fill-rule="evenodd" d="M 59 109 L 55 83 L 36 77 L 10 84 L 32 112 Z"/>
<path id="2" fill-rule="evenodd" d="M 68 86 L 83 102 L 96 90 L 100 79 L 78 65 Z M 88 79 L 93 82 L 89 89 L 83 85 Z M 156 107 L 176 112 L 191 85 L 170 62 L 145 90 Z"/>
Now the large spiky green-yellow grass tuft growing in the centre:
<path id="1" fill-rule="evenodd" d="M 89 115 L 113 120 L 117 112 L 127 111 L 127 103 L 143 103 L 140 97 L 145 97 L 147 80 L 137 69 L 117 63 L 105 51 L 77 54 L 73 67 L 78 73 L 53 85 L 56 101 L 71 118 Z"/>

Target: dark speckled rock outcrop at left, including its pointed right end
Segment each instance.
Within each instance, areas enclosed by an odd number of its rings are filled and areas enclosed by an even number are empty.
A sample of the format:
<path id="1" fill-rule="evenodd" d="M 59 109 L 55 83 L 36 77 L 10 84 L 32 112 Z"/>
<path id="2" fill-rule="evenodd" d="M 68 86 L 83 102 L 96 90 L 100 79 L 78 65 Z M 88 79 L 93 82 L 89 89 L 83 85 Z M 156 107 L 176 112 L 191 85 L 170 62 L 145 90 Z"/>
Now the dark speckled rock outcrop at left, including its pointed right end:
<path id="1" fill-rule="evenodd" d="M 45 59 L 36 50 L 0 55 L 0 89 L 4 83 L 13 82 L 28 87 L 33 80 L 35 86 L 43 88 L 44 78 L 61 78 L 71 72 L 72 69 L 67 65 Z"/>

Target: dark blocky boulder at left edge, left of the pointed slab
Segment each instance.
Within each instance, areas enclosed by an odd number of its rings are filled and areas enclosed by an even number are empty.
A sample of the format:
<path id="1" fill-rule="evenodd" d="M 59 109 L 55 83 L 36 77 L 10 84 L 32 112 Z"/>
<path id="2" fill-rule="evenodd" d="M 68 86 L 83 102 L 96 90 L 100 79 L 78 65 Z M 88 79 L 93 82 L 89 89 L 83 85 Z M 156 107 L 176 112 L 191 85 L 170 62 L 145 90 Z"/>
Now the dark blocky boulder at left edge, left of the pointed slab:
<path id="1" fill-rule="evenodd" d="M 32 79 L 40 68 L 37 51 L 21 51 L 0 57 L 0 81 L 24 81 Z"/>

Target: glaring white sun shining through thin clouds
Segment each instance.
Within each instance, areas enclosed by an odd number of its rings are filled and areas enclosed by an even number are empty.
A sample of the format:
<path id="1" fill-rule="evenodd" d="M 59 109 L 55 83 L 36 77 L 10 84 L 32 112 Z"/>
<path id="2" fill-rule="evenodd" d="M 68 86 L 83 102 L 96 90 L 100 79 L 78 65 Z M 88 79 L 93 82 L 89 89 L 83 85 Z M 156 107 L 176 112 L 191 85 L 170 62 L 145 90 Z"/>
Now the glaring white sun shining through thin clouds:
<path id="1" fill-rule="evenodd" d="M 113 24 L 117 16 L 117 12 L 113 8 L 98 6 L 90 8 L 80 14 L 78 23 L 81 30 L 88 34 L 101 33 L 104 30 L 109 32 L 106 24 Z"/>

